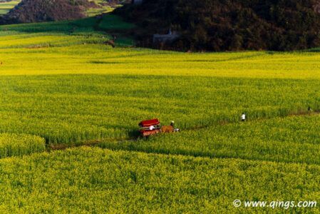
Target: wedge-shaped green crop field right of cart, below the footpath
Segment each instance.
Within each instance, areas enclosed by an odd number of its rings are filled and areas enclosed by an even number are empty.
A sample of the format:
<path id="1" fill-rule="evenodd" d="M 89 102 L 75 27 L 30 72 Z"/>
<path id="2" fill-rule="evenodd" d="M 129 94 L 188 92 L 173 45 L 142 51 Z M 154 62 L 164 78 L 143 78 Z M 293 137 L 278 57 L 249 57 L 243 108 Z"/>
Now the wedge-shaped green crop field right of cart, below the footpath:
<path id="1" fill-rule="evenodd" d="M 319 118 L 291 116 L 225 123 L 164 134 L 148 141 L 105 141 L 100 146 L 147 153 L 320 164 Z"/>

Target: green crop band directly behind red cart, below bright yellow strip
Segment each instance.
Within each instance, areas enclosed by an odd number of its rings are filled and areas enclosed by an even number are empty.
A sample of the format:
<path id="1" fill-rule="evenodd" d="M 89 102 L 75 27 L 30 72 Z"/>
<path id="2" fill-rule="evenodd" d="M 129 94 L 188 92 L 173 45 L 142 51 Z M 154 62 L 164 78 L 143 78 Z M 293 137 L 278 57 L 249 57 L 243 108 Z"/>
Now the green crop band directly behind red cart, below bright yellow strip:
<path id="1" fill-rule="evenodd" d="M 70 63 L 75 50 L 71 47 L 68 49 L 71 52 L 58 54 L 60 50 L 57 49 L 56 56 L 61 57 L 61 63 Z M 108 51 L 109 57 L 112 52 Z M 43 56 L 38 51 L 35 54 L 28 56 L 30 61 L 34 56 Z M 52 56 L 54 51 L 46 59 L 51 64 L 56 60 Z M 69 66 L 76 67 L 77 61 L 84 60 L 84 56 L 76 59 L 73 54 L 73 57 Z M 140 56 L 138 61 L 143 58 Z M 130 68 L 131 60 L 130 56 L 108 61 L 89 56 L 83 68 L 116 71 L 118 66 Z M 158 117 L 163 123 L 175 120 L 180 128 L 192 129 L 221 121 L 237 123 L 242 111 L 254 120 L 299 113 L 308 106 L 318 109 L 320 104 L 317 80 L 69 74 L 2 76 L 0 83 L 0 120 L 3 121 L 0 131 L 35 134 L 50 143 L 129 137 L 143 118 Z"/>

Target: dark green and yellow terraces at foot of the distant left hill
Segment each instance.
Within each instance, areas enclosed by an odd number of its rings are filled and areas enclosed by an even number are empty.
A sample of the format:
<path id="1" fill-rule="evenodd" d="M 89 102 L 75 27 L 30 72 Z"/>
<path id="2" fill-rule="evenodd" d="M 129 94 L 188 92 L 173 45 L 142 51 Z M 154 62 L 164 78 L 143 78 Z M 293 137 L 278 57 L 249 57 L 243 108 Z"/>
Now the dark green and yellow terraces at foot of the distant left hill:
<path id="1" fill-rule="evenodd" d="M 103 19 L 90 17 L 75 21 L 56 21 L 36 24 L 15 24 L 0 26 L 0 49 L 40 49 L 49 47 L 68 47 L 75 45 L 105 45 L 112 36 L 104 31 L 113 31 L 115 27 L 103 20 L 120 26 L 133 28 L 133 25 L 122 21 L 118 16 L 105 15 Z M 100 29 L 101 26 L 101 29 Z M 132 46 L 133 40 L 118 35 L 117 46 Z M 2 52 L 2 51 L 1 51 Z"/>

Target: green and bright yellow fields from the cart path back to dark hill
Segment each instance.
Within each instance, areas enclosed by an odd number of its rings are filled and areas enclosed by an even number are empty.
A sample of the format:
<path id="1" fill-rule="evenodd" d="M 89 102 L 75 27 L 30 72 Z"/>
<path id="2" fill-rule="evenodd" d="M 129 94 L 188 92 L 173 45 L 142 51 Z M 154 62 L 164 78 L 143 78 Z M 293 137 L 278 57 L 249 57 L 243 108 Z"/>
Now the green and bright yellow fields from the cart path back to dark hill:
<path id="1" fill-rule="evenodd" d="M 180 54 L 46 34 L 0 41 L 1 131 L 80 143 L 130 137 L 144 118 L 194 128 L 320 108 L 317 53 Z"/>

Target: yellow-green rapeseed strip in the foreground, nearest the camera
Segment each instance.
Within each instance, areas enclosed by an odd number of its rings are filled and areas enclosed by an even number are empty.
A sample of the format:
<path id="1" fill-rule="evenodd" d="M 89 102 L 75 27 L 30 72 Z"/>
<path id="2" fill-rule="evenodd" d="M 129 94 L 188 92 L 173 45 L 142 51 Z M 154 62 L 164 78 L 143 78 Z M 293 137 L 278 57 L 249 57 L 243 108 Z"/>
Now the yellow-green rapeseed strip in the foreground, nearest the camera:
<path id="1" fill-rule="evenodd" d="M 1 213 L 280 213 L 232 202 L 315 200 L 320 166 L 83 147 L 1 159 L 0 180 Z"/>

